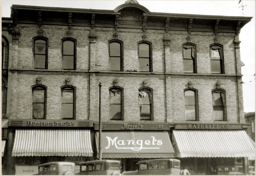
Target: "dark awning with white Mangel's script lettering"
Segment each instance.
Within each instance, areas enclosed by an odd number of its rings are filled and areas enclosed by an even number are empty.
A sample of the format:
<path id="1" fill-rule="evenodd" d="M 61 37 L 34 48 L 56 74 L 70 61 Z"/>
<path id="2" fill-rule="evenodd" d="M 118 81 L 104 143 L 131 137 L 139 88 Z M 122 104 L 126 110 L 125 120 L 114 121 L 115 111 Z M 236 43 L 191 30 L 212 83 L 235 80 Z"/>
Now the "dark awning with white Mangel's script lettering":
<path id="1" fill-rule="evenodd" d="M 99 133 L 96 133 L 97 149 Z M 102 158 L 173 158 L 167 132 L 113 131 L 101 133 Z M 99 153 L 99 149 L 98 149 Z"/>

